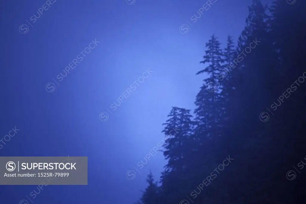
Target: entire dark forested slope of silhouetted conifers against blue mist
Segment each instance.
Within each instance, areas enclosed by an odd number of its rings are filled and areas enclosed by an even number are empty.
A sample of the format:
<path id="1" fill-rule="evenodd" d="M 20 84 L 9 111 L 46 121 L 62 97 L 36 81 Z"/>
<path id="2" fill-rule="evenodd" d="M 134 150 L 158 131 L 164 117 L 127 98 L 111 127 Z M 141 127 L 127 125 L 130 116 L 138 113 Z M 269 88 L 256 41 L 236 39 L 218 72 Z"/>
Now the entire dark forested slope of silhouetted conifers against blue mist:
<path id="1" fill-rule="evenodd" d="M 194 117 L 170 111 L 162 132 L 179 131 L 164 145 L 168 163 L 159 183 L 148 175 L 138 203 L 305 203 L 306 168 L 286 175 L 306 155 L 305 9 L 253 0 L 237 44 L 211 36 Z"/>

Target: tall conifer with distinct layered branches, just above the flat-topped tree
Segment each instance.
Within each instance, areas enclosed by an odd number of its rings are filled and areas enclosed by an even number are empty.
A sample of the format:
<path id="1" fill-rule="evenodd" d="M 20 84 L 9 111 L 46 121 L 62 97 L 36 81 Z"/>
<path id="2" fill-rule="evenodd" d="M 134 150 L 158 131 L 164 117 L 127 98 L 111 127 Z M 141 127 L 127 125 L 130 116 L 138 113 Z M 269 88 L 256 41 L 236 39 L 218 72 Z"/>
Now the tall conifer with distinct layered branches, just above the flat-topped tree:
<path id="1" fill-rule="evenodd" d="M 220 48 L 220 42 L 215 35 L 206 43 L 207 50 L 203 56 L 204 60 L 200 63 L 207 66 L 196 75 L 207 73 L 209 78 L 204 79 L 204 84 L 200 88 L 200 92 L 196 96 L 196 135 L 199 138 L 200 144 L 205 143 L 208 139 L 218 140 L 221 136 L 220 128 L 220 113 L 221 113 L 221 87 L 217 76 L 223 71 L 223 53 Z"/>

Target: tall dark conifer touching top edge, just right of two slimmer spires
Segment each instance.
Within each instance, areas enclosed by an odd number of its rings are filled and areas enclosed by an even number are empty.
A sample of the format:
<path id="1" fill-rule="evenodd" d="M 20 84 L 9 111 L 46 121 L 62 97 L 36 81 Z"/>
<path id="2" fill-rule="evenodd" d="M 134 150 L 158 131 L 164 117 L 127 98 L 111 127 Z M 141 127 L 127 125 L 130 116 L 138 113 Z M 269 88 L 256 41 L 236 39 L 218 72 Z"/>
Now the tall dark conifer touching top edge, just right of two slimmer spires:
<path id="1" fill-rule="evenodd" d="M 275 81 L 271 80 L 271 76 L 275 74 L 270 71 L 271 66 L 274 67 L 276 55 L 272 47 L 273 42 L 267 39 L 269 36 L 267 8 L 260 0 L 253 0 L 248 10 L 246 26 L 238 39 L 236 57 L 238 63 L 231 72 L 233 80 L 227 85 L 227 89 L 234 87 L 235 91 L 229 96 L 230 103 L 227 104 L 226 110 L 232 111 L 231 121 L 243 121 L 242 127 L 241 124 L 231 124 L 233 128 L 237 130 L 240 128 L 242 132 L 258 131 L 259 128 L 252 124 L 259 120 L 255 117 L 258 112 L 262 112 L 267 106 L 262 98 L 271 97 L 270 81 Z M 270 79 L 266 79 L 266 76 Z M 231 132 L 231 135 L 237 134 Z"/>

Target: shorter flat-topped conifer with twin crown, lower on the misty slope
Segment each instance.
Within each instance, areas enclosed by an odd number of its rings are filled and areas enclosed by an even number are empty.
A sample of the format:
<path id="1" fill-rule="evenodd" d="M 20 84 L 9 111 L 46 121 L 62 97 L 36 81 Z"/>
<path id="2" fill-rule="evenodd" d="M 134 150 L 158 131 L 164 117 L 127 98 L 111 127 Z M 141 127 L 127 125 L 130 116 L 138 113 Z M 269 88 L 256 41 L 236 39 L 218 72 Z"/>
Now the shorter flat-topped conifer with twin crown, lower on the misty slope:
<path id="1" fill-rule="evenodd" d="M 168 160 L 162 174 L 162 196 L 166 203 L 176 203 L 180 195 L 189 193 L 192 173 L 193 151 L 196 141 L 193 138 L 193 121 L 190 110 L 172 107 L 169 119 L 164 123 L 162 131 L 166 136 L 171 135 L 164 145 L 164 156 Z M 174 185 L 175 184 L 175 185 Z"/>

